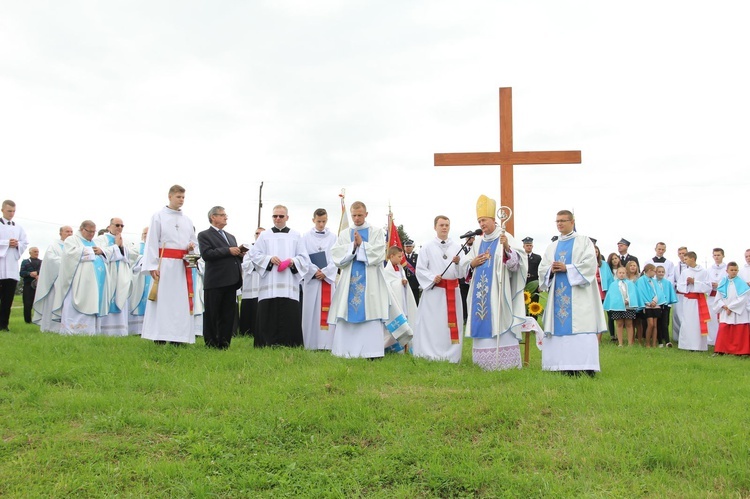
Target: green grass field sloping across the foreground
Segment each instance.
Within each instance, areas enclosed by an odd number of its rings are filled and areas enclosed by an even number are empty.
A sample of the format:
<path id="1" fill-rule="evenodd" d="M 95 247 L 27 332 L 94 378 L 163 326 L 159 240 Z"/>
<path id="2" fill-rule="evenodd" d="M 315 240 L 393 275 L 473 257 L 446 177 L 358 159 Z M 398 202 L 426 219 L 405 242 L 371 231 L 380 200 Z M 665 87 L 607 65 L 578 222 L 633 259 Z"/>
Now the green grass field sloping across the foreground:
<path id="1" fill-rule="evenodd" d="M 20 298 L 19 298 L 20 299 Z M 750 497 L 750 360 L 593 379 L 391 355 L 0 334 L 3 497 Z"/>

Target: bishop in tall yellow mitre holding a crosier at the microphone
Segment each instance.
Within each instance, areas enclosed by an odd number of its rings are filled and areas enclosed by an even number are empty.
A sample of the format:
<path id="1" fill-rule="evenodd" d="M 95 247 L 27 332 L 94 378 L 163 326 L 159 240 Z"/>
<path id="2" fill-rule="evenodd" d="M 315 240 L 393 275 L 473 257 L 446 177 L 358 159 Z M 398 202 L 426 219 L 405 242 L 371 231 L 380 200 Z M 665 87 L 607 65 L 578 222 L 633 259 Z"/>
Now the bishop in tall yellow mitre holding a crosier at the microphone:
<path id="1" fill-rule="evenodd" d="M 460 263 L 460 274 L 471 278 L 466 336 L 472 338 L 473 362 L 483 369 L 520 369 L 528 259 L 523 247 L 495 221 L 496 208 L 487 196 L 477 200 L 483 234 Z"/>

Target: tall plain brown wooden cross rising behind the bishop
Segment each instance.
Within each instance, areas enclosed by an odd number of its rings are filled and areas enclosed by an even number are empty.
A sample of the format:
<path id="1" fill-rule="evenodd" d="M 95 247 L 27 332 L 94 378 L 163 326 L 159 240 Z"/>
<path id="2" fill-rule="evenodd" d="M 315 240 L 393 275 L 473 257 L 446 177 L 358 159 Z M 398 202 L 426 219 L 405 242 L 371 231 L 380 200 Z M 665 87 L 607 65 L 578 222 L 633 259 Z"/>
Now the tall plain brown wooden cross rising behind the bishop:
<path id="1" fill-rule="evenodd" d="M 580 164 L 581 151 L 513 150 L 513 94 L 500 88 L 500 152 L 435 153 L 435 166 L 500 165 L 500 205 L 513 210 L 513 165 Z M 513 235 L 513 218 L 505 229 Z"/>

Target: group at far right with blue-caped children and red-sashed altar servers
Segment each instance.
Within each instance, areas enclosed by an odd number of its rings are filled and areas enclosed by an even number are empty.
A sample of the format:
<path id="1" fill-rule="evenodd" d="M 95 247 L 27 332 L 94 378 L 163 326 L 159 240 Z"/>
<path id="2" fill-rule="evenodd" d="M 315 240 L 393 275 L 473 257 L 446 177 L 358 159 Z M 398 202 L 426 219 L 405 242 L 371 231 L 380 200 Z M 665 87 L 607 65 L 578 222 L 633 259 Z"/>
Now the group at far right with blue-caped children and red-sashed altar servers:
<path id="1" fill-rule="evenodd" d="M 609 312 L 612 341 L 619 346 L 672 347 L 714 353 L 750 355 L 750 250 L 740 268 L 724 263 L 724 250 L 714 248 L 714 264 L 704 269 L 698 255 L 686 247 L 677 250 L 677 264 L 664 257 L 666 245 L 656 244 L 655 255 L 640 269 L 628 254 L 630 243 L 621 239 L 618 253 L 606 259 L 596 248 L 604 309 Z"/>

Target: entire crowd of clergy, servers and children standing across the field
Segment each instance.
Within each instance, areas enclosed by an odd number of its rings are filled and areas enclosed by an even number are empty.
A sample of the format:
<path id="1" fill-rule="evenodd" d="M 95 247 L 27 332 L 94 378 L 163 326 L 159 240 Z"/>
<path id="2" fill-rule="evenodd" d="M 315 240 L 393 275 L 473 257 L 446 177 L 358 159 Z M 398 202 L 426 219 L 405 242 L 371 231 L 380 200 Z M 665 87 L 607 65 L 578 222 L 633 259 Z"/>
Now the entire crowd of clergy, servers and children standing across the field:
<path id="1" fill-rule="evenodd" d="M 185 189 L 172 186 L 139 243 L 123 240 L 121 218 L 98 236 L 84 220 L 77 231 L 61 227 L 43 259 L 29 248 L 20 262 L 28 241 L 13 222 L 15 203 L 4 201 L 0 330 L 8 330 L 23 278 L 24 320 L 42 331 L 137 334 L 159 344 L 195 343 L 202 335 L 215 349 L 247 334 L 258 348 L 303 346 L 369 359 L 408 352 L 454 363 L 466 337 L 475 364 L 500 370 L 522 365 L 519 341 L 533 321 L 529 283 L 535 297 L 547 296 L 537 339 L 545 370 L 594 375 L 606 332 L 619 346 L 675 341 L 686 350 L 714 345 L 717 354 L 750 354 L 750 250 L 740 268 L 724 264 L 716 248 L 715 265 L 703 269 L 687 248 L 673 264 L 658 243 L 641 271 L 627 240 L 605 259 L 596 240 L 575 230 L 573 213 L 561 210 L 559 235 L 540 256 L 531 238 L 521 246 L 505 232 L 486 196 L 476 204 L 479 230 L 454 241 L 450 219 L 438 215 L 435 237 L 419 255 L 413 241 L 389 245 L 360 201 L 350 207 L 352 226 L 338 233 L 327 227 L 324 209 L 300 233 L 287 225 L 287 208 L 274 206 L 270 230 L 259 227 L 254 244 L 239 245 L 224 230 L 223 207 L 212 207 L 208 228 L 197 232 L 184 202 Z"/>

